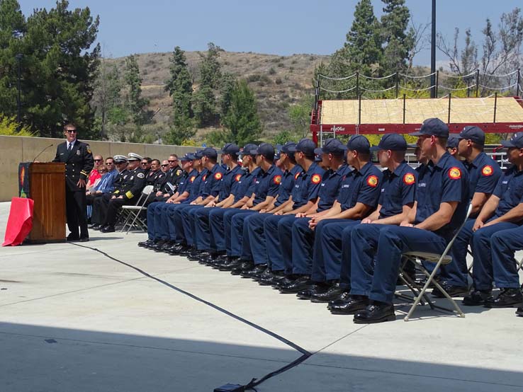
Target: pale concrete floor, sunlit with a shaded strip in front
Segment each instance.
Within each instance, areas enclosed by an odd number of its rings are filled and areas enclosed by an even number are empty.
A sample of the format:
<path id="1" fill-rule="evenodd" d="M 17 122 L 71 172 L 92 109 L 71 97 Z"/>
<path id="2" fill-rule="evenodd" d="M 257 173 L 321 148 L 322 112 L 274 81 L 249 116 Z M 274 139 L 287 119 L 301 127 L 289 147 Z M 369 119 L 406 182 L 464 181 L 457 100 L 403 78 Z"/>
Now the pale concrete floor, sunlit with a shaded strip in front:
<path id="1" fill-rule="evenodd" d="M 0 238 L 9 203 L 0 203 Z M 91 232 L 86 246 L 294 342 L 313 356 L 264 391 L 521 391 L 523 318 L 417 309 L 356 325 L 325 304 L 138 248 L 145 234 Z M 83 244 L 82 244 L 83 245 Z M 519 254 L 521 257 L 522 254 Z M 421 316 L 421 318 L 420 318 Z M 0 248 L 0 391 L 213 391 L 300 353 L 213 307 L 70 243 Z"/>

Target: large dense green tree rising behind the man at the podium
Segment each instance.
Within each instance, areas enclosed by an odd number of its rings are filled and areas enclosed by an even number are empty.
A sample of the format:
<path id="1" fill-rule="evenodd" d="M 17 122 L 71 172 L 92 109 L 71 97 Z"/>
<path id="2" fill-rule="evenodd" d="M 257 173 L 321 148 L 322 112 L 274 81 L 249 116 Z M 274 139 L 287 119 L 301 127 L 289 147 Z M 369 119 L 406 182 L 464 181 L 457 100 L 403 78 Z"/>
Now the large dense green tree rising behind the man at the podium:
<path id="1" fill-rule="evenodd" d="M 87 7 L 71 11 L 69 2 L 62 0 L 49 11 L 35 9 L 21 28 L 20 14 L 13 8 L 16 4 L 13 0 L 1 1 L 0 13 L 11 6 L 11 18 L 5 19 L 2 14 L 0 20 L 14 23 L 15 40 L 11 40 L 8 51 L 22 54 L 23 123 L 40 136 L 57 136 L 63 122 L 72 121 L 82 137 L 92 137 L 94 110 L 89 102 L 100 57 L 99 45 L 93 47 L 99 18 L 93 18 Z M 9 108 L 6 114 L 14 113 Z"/>

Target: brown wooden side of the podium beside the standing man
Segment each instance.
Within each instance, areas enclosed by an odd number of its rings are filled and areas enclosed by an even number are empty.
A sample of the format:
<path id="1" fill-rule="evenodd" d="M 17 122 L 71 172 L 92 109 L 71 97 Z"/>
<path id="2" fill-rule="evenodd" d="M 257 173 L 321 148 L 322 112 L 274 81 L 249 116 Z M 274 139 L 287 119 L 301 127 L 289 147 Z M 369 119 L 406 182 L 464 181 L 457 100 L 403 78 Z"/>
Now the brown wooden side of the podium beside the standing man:
<path id="1" fill-rule="evenodd" d="M 30 198 L 34 200 L 30 243 L 65 241 L 65 165 L 30 163 Z"/>

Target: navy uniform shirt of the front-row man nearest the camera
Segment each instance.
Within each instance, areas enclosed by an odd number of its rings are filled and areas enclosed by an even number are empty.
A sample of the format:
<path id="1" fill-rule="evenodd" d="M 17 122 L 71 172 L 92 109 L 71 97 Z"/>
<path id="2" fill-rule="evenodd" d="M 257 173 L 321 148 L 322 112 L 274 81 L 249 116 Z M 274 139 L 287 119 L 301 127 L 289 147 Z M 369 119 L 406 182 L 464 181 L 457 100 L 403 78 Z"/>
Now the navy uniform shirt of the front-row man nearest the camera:
<path id="1" fill-rule="evenodd" d="M 468 185 L 468 171 L 448 152 L 443 154 L 436 165 L 425 166 L 424 173 L 417 180 L 415 223 L 418 224 L 437 212 L 443 202 L 459 202 L 449 224 L 436 231 L 445 238 L 452 236 L 465 219 Z"/>

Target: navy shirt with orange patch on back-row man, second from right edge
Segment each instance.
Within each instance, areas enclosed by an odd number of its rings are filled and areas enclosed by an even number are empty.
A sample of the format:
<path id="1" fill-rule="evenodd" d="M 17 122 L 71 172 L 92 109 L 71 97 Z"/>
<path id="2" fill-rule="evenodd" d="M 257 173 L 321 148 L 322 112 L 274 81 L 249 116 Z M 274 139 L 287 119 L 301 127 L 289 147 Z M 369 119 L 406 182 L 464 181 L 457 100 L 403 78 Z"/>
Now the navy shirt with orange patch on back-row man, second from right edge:
<path id="1" fill-rule="evenodd" d="M 482 151 L 471 163 L 465 163 L 465 167 L 468 170 L 468 178 L 471 182 L 468 192 L 469 200 L 472 200 L 475 192 L 489 195 L 494 192 L 502 171 L 493 158 Z"/>

